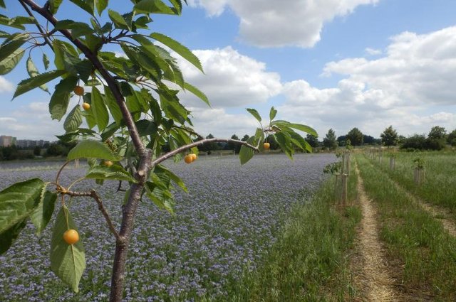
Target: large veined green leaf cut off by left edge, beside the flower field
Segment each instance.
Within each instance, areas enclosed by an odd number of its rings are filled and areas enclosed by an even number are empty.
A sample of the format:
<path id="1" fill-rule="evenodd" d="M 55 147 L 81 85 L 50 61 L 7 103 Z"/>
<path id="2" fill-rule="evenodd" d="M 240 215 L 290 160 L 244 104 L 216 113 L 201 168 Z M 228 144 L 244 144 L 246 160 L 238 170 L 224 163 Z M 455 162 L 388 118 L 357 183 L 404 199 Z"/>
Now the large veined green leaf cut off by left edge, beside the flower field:
<path id="1" fill-rule="evenodd" d="M 33 178 L 0 192 L 0 254 L 9 249 L 26 219 L 38 207 L 45 186 L 42 180 Z"/>

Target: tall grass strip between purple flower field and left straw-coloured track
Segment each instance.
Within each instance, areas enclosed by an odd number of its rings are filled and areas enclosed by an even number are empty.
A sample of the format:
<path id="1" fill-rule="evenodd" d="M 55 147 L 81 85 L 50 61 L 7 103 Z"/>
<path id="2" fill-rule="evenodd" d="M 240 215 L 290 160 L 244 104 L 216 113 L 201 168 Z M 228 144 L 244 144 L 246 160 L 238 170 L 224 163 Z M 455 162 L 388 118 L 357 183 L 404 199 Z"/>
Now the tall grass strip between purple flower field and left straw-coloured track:
<path id="1" fill-rule="evenodd" d="M 356 179 L 355 173 L 350 178 Z M 356 199 L 353 181 L 348 196 Z M 233 284 L 229 301 L 347 301 L 356 296 L 348 265 L 361 210 L 336 203 L 333 180 L 328 180 L 311 203 L 296 205 L 263 263 Z"/>

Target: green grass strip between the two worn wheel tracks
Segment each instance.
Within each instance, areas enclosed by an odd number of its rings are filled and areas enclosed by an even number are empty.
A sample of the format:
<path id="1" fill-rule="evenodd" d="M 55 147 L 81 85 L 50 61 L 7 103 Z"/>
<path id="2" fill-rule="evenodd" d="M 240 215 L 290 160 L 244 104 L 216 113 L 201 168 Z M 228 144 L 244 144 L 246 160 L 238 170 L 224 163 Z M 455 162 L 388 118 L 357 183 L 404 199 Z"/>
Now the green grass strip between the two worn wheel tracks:
<path id="1" fill-rule="evenodd" d="M 456 301 L 456 239 L 388 175 L 358 157 L 366 192 L 378 207 L 380 238 L 398 283 L 410 296 Z"/>

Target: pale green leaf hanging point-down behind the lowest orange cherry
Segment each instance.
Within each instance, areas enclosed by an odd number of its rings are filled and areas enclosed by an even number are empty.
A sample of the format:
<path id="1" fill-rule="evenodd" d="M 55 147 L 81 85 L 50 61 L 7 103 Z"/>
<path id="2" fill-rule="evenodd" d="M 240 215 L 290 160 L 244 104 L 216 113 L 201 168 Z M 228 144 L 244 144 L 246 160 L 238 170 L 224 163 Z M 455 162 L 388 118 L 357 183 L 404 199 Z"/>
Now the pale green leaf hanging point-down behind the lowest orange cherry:
<path id="1" fill-rule="evenodd" d="M 79 281 L 86 269 L 86 254 L 81 239 L 75 244 L 68 244 L 63 240 L 63 233 L 69 229 L 78 230 L 68 208 L 63 205 L 57 214 L 52 232 L 51 269 L 77 293 Z"/>

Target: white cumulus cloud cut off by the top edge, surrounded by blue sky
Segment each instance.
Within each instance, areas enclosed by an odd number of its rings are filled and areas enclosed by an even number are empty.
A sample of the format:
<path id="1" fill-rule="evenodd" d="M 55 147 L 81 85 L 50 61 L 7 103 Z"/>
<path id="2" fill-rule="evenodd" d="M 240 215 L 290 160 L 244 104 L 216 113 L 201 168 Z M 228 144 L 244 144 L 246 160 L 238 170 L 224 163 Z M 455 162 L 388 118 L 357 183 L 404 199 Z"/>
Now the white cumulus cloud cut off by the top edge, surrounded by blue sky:
<path id="1" fill-rule="evenodd" d="M 310 48 L 321 39 L 324 23 L 351 14 L 357 6 L 379 0 L 192 0 L 209 16 L 232 9 L 239 16 L 239 33 L 247 43 L 260 47 L 295 45 Z"/>

